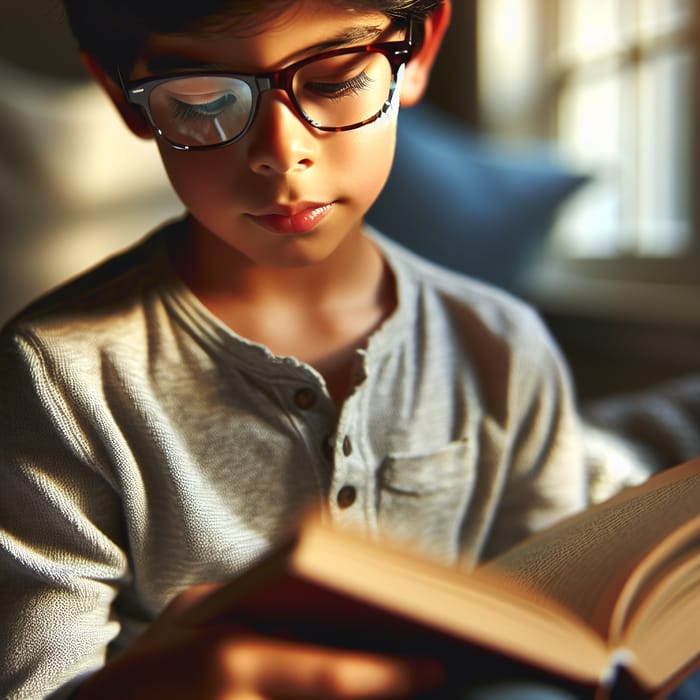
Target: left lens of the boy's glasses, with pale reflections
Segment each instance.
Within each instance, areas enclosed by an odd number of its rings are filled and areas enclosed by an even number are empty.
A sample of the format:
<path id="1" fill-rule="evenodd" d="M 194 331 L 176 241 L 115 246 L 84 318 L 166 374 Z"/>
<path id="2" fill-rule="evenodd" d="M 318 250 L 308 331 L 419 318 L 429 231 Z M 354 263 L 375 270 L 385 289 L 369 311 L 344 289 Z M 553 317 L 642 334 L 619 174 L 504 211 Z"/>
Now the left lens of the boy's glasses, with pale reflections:
<path id="1" fill-rule="evenodd" d="M 180 146 L 213 146 L 245 131 L 252 112 L 250 86 L 238 78 L 174 78 L 153 88 L 149 107 L 156 127 Z"/>

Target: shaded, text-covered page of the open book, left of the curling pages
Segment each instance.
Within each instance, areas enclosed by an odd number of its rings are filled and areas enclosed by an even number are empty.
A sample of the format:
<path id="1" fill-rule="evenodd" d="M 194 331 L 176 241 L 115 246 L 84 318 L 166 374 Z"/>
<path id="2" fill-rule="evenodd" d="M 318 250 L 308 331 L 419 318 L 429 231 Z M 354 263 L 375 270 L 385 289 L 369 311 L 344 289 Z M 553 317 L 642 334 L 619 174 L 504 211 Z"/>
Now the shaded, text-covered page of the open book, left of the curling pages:
<path id="1" fill-rule="evenodd" d="M 608 638 L 627 578 L 655 545 L 693 519 L 698 503 L 700 459 L 534 535 L 483 568 L 543 593 Z"/>

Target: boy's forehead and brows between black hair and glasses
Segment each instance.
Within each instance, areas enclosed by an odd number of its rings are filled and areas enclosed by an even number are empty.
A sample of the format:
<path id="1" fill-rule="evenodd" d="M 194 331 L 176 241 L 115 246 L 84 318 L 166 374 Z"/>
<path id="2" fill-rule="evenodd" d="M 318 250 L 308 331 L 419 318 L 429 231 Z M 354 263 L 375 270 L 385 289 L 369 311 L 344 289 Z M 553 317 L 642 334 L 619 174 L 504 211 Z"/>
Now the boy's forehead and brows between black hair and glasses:
<path id="1" fill-rule="evenodd" d="M 192 31 L 151 35 L 137 65 L 149 74 L 207 66 L 275 70 L 320 51 L 372 43 L 389 25 L 378 11 L 302 0 L 284 3 L 275 14 L 266 10 L 241 21 L 223 13 Z"/>

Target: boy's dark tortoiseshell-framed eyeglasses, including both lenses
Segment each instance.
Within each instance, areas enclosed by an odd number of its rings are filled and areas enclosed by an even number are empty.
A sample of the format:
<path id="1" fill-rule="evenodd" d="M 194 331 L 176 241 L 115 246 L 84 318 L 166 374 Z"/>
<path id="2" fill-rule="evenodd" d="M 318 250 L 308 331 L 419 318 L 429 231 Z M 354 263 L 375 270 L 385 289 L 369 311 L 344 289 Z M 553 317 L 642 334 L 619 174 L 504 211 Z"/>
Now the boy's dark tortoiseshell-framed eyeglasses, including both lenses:
<path id="1" fill-rule="evenodd" d="M 217 148 L 245 136 L 266 90 L 284 90 L 296 114 L 321 131 L 370 124 L 392 105 L 410 60 L 414 22 L 403 41 L 328 51 L 272 73 L 179 73 L 124 85 L 154 132 L 174 148 Z"/>

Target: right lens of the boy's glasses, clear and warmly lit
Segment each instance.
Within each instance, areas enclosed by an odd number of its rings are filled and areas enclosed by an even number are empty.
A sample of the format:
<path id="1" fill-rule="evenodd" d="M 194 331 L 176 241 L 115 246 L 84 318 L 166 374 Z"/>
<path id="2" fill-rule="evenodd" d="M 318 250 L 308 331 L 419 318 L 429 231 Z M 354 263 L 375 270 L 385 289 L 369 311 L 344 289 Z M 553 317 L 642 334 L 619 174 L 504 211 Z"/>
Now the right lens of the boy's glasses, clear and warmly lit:
<path id="1" fill-rule="evenodd" d="M 321 58 L 294 76 L 297 104 L 316 126 L 360 124 L 385 109 L 393 79 L 389 59 L 371 51 Z"/>

